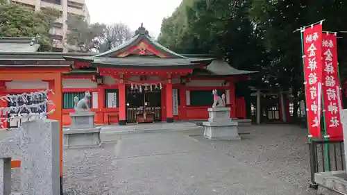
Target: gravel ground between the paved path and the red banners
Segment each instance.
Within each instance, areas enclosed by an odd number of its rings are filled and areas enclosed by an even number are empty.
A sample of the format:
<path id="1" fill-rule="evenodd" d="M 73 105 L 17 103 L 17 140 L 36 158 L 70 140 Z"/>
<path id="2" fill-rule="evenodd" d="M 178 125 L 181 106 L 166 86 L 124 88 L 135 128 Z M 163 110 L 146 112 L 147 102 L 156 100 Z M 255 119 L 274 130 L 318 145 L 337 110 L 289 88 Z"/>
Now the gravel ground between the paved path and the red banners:
<path id="1" fill-rule="evenodd" d="M 194 136 L 203 144 L 212 146 L 239 162 L 260 169 L 291 185 L 306 191 L 310 180 L 310 154 L 307 129 L 290 125 L 242 126 L 241 142 L 211 142 Z"/>

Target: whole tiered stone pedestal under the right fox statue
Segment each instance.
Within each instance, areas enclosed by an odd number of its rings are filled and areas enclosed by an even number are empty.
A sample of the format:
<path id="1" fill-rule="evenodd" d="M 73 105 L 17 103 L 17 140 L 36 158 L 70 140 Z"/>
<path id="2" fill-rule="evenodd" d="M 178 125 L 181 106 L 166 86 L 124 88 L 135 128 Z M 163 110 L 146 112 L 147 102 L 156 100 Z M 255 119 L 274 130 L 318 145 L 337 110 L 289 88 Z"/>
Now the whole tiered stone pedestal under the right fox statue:
<path id="1" fill-rule="evenodd" d="M 203 122 L 204 137 L 208 139 L 239 140 L 238 122 L 230 119 L 230 108 L 208 108 L 208 122 Z"/>

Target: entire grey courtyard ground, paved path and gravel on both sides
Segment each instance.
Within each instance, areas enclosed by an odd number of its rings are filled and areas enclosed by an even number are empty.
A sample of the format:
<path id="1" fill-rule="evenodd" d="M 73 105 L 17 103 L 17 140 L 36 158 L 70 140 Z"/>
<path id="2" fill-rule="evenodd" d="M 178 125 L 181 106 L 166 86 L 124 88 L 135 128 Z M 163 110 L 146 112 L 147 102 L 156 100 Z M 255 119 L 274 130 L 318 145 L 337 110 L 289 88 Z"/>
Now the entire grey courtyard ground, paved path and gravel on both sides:
<path id="1" fill-rule="evenodd" d="M 65 194 L 312 194 L 305 129 L 242 127 L 240 142 L 179 131 L 65 151 Z"/>

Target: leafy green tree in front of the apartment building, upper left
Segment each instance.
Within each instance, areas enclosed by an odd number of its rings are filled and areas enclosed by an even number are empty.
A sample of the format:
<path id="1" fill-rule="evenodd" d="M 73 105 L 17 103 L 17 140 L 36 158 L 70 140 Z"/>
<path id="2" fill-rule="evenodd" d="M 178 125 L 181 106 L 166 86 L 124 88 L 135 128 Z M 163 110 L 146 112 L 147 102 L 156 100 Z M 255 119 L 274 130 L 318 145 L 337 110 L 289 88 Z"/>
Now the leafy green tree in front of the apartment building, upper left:
<path id="1" fill-rule="evenodd" d="M 60 11 L 45 8 L 38 12 L 14 3 L 0 3 L 0 37 L 40 37 L 42 51 L 51 50 L 49 29 Z"/>

